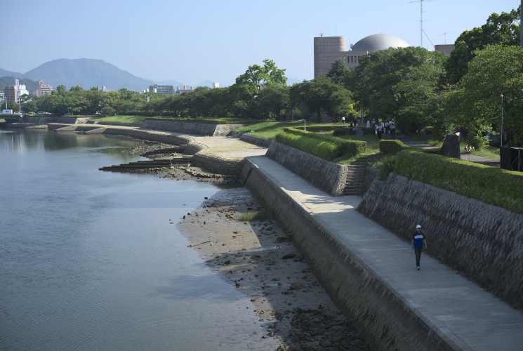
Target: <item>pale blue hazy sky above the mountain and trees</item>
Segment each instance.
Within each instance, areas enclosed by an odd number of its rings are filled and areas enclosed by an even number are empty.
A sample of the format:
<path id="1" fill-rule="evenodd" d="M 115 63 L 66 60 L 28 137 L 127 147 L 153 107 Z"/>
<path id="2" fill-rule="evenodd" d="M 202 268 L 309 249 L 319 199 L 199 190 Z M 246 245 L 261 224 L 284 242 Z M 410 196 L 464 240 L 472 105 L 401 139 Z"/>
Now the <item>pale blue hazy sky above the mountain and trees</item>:
<path id="1" fill-rule="evenodd" d="M 425 0 L 423 46 L 454 44 L 519 4 Z M 154 81 L 227 86 L 268 58 L 302 81 L 313 78 L 320 32 L 346 37 L 347 46 L 378 33 L 419 46 L 420 10 L 410 0 L 2 0 L 0 68 L 25 73 L 58 58 L 95 58 Z"/>

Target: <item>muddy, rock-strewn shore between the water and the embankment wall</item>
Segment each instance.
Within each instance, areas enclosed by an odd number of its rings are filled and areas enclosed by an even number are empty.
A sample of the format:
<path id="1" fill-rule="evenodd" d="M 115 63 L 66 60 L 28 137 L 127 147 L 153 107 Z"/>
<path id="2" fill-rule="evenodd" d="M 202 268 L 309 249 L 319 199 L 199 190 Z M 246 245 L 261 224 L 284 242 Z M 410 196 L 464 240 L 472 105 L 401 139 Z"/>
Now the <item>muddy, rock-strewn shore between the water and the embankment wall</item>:
<path id="1" fill-rule="evenodd" d="M 278 350 L 367 350 L 276 221 L 237 220 L 262 208 L 244 187 L 221 190 L 180 218 L 178 229 L 193 244 L 210 240 L 192 249 L 251 298 L 267 327 L 263 338 L 279 339 Z"/>

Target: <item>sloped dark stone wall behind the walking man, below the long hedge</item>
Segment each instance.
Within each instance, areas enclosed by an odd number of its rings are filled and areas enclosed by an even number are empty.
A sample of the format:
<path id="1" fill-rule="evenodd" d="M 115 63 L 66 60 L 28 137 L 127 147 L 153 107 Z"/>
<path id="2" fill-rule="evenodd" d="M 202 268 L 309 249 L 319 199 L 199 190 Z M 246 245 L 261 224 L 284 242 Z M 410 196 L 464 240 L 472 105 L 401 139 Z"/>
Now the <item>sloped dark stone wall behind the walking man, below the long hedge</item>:
<path id="1" fill-rule="evenodd" d="M 523 308 L 523 215 L 393 173 L 357 211 L 409 242 L 420 224 L 430 256 Z"/>

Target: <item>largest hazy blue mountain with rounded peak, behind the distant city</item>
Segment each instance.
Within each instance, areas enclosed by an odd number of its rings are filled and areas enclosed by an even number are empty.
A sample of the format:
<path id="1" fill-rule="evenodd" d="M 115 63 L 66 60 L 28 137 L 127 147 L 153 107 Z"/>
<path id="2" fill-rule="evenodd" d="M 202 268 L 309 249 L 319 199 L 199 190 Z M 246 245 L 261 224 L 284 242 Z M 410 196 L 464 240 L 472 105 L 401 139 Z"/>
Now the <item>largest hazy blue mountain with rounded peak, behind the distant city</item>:
<path id="1" fill-rule="evenodd" d="M 49 61 L 31 69 L 29 72 L 25 72 L 24 77 L 35 81 L 43 79 L 53 88 L 65 85 L 67 90 L 72 86 L 79 85 L 84 89 L 93 86 L 98 86 L 98 88 L 106 86 L 108 89 L 114 90 L 128 88 L 132 91 L 141 91 L 154 84 L 149 79 L 135 77 L 133 74 L 103 60 L 90 58 L 74 60 L 60 58 Z"/>

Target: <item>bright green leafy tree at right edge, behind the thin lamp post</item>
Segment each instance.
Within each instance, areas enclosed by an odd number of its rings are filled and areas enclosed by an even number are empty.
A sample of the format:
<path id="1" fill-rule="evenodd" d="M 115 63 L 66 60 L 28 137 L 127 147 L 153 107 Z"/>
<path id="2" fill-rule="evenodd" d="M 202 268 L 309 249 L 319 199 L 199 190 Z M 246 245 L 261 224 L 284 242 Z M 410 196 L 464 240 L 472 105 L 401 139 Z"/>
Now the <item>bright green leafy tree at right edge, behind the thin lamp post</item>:
<path id="1" fill-rule="evenodd" d="M 446 114 L 457 125 L 469 129 L 469 143 L 483 147 L 501 124 L 501 95 L 504 97 L 503 128 L 512 135 L 512 145 L 523 146 L 523 48 L 486 46 L 474 53 L 460 88 L 444 99 Z"/>

